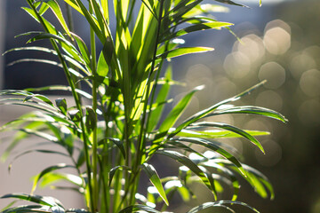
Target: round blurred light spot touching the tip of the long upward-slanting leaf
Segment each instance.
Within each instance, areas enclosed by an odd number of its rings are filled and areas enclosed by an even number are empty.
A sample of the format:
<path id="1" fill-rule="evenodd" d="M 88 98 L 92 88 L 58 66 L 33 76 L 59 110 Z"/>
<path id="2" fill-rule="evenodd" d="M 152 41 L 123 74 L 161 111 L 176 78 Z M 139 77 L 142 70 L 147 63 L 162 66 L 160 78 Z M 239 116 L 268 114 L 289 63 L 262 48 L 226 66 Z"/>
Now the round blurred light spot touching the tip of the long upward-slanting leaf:
<path id="1" fill-rule="evenodd" d="M 272 61 L 260 67 L 259 71 L 260 81 L 267 80 L 265 86 L 269 89 L 279 88 L 285 81 L 284 67 Z"/>

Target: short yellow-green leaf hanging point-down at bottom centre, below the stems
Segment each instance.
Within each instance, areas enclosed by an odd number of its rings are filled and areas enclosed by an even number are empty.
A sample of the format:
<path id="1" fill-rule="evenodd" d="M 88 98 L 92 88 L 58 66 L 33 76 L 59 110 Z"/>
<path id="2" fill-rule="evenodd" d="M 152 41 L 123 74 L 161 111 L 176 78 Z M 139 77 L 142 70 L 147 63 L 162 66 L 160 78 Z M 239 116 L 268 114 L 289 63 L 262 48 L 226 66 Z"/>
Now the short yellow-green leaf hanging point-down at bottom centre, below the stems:
<path id="1" fill-rule="evenodd" d="M 146 171 L 147 176 L 150 180 L 150 182 L 152 183 L 152 185 L 154 185 L 156 187 L 157 192 L 159 193 L 160 197 L 163 199 L 163 201 L 165 202 L 165 204 L 167 206 L 169 206 L 169 201 L 164 193 L 164 187 L 161 184 L 161 180 L 160 177 L 158 176 L 158 174 L 156 173 L 156 169 L 148 163 L 143 163 L 141 165 L 142 169 Z"/>

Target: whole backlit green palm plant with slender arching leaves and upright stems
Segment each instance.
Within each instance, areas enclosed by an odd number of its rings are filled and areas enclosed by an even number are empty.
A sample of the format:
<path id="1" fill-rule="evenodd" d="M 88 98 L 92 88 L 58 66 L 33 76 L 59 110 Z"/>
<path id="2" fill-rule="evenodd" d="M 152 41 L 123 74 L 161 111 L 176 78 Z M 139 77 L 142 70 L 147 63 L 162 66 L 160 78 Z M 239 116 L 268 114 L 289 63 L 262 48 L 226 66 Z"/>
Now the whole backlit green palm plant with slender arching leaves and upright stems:
<path id="1" fill-rule="evenodd" d="M 240 5 L 230 0 L 216 1 Z M 90 26 L 90 45 L 73 32 L 72 18 L 64 19 L 57 0 L 27 0 L 28 7 L 23 10 L 44 31 L 20 36 L 31 36 L 28 43 L 48 39 L 52 48 L 31 46 L 10 51 L 43 51 L 58 57 L 60 62 L 41 61 L 62 68 L 68 86 L 0 91 L 4 97 L 0 99 L 1 105 L 22 105 L 37 110 L 6 123 L 0 130 L 19 130 L 3 158 L 20 140 L 33 135 L 62 147 L 65 152 L 35 148 L 17 157 L 32 152 L 60 154 L 73 163 L 52 165 L 40 171 L 34 178 L 30 194 L 4 195 L 3 199 L 16 198 L 36 204 L 10 205 L 3 212 L 160 212 L 169 205 L 168 197 L 173 193 L 179 193 L 184 201 L 190 200 L 193 192 L 189 185 L 192 183 L 203 184 L 212 192 L 215 201 L 205 202 L 188 212 L 212 207 L 231 210 L 228 204 L 240 204 L 257 211 L 236 201 L 240 187 L 238 177 L 243 177 L 260 196 L 268 197 L 269 194 L 273 197 L 267 177 L 239 162 L 233 147 L 215 140 L 246 138 L 264 152 L 253 136 L 268 132 L 204 121 L 204 118 L 220 114 L 259 114 L 285 122 L 283 115 L 267 108 L 230 105 L 262 83 L 178 123 L 196 91 L 202 89 L 202 86 L 196 87 L 180 99 L 170 113 L 164 114 L 165 104 L 171 102 L 167 98 L 170 87 L 179 84 L 172 80 L 172 69 L 167 61 L 213 50 L 210 47 L 180 47 L 180 36 L 207 29 L 229 30 L 230 23 L 214 20 L 209 13 L 214 12 L 217 5 L 202 4 L 202 0 L 61 2 L 67 4 L 68 12 L 73 8 L 84 16 Z M 138 9 L 135 16 L 134 11 Z M 49 11 L 59 20 L 60 26 L 54 26 L 44 18 Z M 109 28 L 111 21 L 116 23 L 115 32 Z M 96 39 L 103 46 L 101 51 L 97 50 Z M 163 67 L 167 68 L 164 70 Z M 90 91 L 81 89 L 84 84 Z M 75 106 L 67 106 L 66 99 L 52 102 L 36 93 L 39 91 L 69 91 Z M 85 104 L 88 101 L 91 104 Z M 204 147 L 205 152 L 197 151 L 196 146 Z M 160 178 L 150 163 L 155 155 L 180 162 L 179 175 Z M 60 171 L 65 168 L 76 169 L 76 174 Z M 142 172 L 152 185 L 144 195 L 138 192 Z M 87 209 L 65 209 L 52 197 L 35 195 L 36 186 L 44 179 L 46 184 L 60 180 L 75 185 L 84 195 Z M 223 185 L 233 188 L 230 201 L 219 198 Z"/>

